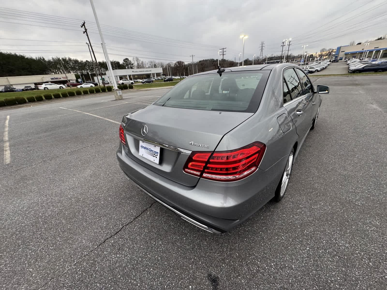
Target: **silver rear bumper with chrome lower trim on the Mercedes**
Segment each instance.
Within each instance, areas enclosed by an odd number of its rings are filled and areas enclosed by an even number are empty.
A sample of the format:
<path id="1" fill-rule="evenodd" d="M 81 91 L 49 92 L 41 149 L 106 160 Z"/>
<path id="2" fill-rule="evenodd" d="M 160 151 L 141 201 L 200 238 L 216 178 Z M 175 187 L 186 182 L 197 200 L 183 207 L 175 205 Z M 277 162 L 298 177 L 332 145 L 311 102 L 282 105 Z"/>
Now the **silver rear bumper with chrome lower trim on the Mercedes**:
<path id="1" fill-rule="evenodd" d="M 117 150 L 120 168 L 149 196 L 190 223 L 213 233 L 227 232 L 271 200 L 286 165 L 287 156 L 262 171 L 235 182 L 199 179 L 190 187 L 171 181 Z"/>

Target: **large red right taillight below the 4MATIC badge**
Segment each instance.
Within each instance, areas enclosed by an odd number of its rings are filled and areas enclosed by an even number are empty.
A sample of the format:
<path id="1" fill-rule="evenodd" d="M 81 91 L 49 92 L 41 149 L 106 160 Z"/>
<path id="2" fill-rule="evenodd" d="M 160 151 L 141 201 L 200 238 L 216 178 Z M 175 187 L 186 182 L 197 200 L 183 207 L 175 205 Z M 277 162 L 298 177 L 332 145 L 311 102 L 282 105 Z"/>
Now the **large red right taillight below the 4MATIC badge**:
<path id="1" fill-rule="evenodd" d="M 266 145 L 254 142 L 245 147 L 219 152 L 192 152 L 183 171 L 216 181 L 236 181 L 255 172 Z"/>

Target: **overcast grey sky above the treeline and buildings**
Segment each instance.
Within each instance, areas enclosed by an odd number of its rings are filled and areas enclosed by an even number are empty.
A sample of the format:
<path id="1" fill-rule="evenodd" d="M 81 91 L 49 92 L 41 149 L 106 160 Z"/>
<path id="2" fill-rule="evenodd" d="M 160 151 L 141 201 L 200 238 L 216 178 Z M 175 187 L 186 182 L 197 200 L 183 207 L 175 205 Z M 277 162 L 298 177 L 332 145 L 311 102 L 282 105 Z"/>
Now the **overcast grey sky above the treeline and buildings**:
<path id="1" fill-rule="evenodd" d="M 4 2 L 0 8 L 0 50 L 89 59 L 80 27 L 81 20 L 86 20 L 97 59 L 104 59 L 89 0 L 14 3 Z M 260 54 L 261 41 L 266 56 L 281 54 L 286 38 L 292 38 L 294 54 L 302 53 L 303 44 L 308 44 L 308 53 L 314 53 L 350 41 L 373 40 L 387 34 L 386 4 L 385 0 L 94 0 L 111 60 L 139 56 L 164 62 L 188 62 L 190 55 L 195 55 L 194 61 L 217 58 L 217 50 L 223 47 L 225 58 L 238 61 L 240 34 L 248 35 L 245 58 L 250 59 Z"/>

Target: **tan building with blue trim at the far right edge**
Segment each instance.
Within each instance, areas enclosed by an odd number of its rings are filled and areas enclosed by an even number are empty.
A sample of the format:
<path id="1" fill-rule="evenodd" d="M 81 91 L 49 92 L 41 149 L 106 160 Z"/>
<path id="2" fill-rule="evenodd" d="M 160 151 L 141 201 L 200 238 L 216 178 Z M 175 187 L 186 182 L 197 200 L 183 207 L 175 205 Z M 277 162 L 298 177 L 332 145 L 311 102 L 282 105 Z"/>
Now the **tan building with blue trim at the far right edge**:
<path id="1" fill-rule="evenodd" d="M 387 39 L 368 41 L 369 44 L 361 43 L 356 45 L 337 46 L 334 55 L 335 60 L 347 60 L 348 58 L 387 58 Z"/>

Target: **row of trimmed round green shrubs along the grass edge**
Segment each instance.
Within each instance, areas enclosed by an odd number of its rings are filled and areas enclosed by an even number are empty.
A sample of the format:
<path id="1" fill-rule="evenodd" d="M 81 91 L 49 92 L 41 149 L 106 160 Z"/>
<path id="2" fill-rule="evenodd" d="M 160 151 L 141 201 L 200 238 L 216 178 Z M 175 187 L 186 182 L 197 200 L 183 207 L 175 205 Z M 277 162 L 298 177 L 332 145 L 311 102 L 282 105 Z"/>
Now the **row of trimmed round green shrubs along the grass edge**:
<path id="1" fill-rule="evenodd" d="M 133 85 L 119 85 L 118 86 L 119 89 L 133 89 Z M 22 97 L 22 96 L 17 96 L 17 97 L 10 97 L 10 98 L 5 98 L 4 100 L 0 100 L 0 107 L 4 107 L 4 106 L 13 106 L 13 105 L 16 105 L 16 104 L 25 104 L 27 101 L 29 103 L 31 102 L 40 102 L 40 101 L 43 101 L 43 100 L 51 100 L 52 98 L 55 98 L 55 99 L 60 99 L 60 97 L 73 97 L 75 95 L 77 96 L 80 96 L 82 95 L 82 93 L 84 95 L 87 95 L 87 94 L 94 94 L 94 92 L 96 93 L 99 93 L 99 92 L 106 92 L 106 90 L 108 92 L 111 92 L 113 89 L 112 87 L 92 87 L 90 89 L 84 89 L 84 90 L 76 90 L 75 92 L 70 90 L 68 92 L 62 92 L 62 94 L 60 93 L 54 93 L 54 94 L 44 94 L 43 96 L 42 95 L 36 95 L 36 96 L 28 96 L 28 97 Z M 44 97 L 44 99 L 43 99 Z"/>

